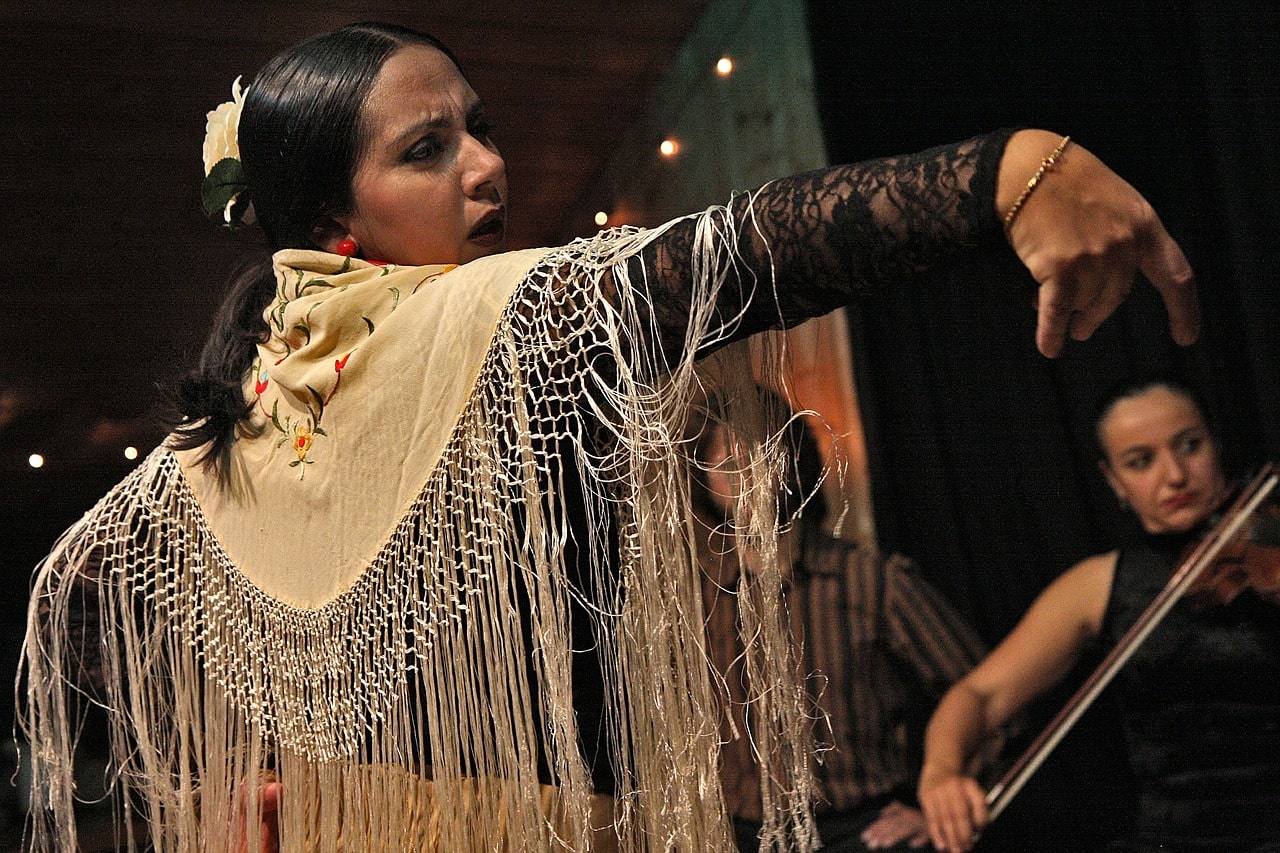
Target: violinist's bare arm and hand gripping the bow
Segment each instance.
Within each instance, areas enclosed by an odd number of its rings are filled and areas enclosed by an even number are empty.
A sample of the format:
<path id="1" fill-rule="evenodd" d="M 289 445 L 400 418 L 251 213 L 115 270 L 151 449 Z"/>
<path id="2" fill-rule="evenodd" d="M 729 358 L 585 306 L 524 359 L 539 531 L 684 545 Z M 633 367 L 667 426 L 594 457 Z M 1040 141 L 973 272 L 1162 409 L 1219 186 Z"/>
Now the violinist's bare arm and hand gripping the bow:
<path id="1" fill-rule="evenodd" d="M 1098 635 L 1116 553 L 1089 557 L 1041 593 L 1018 626 L 938 703 L 924 738 L 919 797 L 940 850 L 968 850 L 988 821 L 969 775 L 983 740 L 1075 665 Z"/>

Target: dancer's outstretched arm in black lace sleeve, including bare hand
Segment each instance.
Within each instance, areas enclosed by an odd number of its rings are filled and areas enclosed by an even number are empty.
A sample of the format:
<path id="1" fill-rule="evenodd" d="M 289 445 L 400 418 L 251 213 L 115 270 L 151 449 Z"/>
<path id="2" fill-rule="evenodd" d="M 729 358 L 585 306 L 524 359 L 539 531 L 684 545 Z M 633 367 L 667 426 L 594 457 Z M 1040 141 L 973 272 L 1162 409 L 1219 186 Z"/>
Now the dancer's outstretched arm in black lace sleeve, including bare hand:
<path id="1" fill-rule="evenodd" d="M 826 314 L 959 251 L 1004 240 L 1005 213 L 1060 138 L 996 132 L 791 175 L 737 196 L 722 222 L 737 229 L 746 269 L 723 291 L 721 315 L 742 314 L 716 343 Z M 671 227 L 645 256 L 669 353 L 684 346 L 700 222 Z M 1092 334 L 1139 269 L 1161 289 L 1175 339 L 1194 339 L 1199 314 L 1185 257 L 1146 200 L 1083 147 L 1064 152 L 1024 202 L 1009 240 L 1041 287 L 1037 343 L 1046 355 L 1057 355 L 1068 330 Z"/>

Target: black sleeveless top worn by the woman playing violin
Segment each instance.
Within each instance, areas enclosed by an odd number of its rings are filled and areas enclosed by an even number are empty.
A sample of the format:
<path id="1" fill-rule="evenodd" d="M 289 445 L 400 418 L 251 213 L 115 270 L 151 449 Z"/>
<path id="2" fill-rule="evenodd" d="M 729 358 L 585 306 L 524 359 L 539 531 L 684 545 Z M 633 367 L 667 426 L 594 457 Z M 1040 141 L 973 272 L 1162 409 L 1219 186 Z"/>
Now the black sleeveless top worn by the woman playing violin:
<path id="1" fill-rule="evenodd" d="M 1120 549 L 1102 624 L 1115 643 L 1189 537 Z M 1116 676 L 1138 784 L 1130 850 L 1280 850 L 1280 606 L 1179 602 Z"/>

